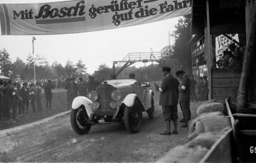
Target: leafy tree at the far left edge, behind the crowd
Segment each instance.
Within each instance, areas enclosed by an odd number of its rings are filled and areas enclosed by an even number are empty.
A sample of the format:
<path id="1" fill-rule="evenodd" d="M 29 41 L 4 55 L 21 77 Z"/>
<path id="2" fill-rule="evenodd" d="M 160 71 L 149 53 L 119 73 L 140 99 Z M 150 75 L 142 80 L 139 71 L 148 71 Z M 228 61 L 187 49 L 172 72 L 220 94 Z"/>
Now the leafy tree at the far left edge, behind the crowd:
<path id="1" fill-rule="evenodd" d="M 11 59 L 6 49 L 0 50 L 1 74 L 6 77 L 11 76 Z"/>

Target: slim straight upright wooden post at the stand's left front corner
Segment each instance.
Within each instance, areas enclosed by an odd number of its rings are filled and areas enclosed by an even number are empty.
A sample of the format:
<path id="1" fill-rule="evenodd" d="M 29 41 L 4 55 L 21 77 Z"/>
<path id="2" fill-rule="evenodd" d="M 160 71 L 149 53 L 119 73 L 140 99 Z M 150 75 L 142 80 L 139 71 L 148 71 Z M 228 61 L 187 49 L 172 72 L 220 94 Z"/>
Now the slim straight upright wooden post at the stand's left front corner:
<path id="1" fill-rule="evenodd" d="M 210 11 L 209 11 L 209 0 L 206 0 L 206 58 L 207 58 L 207 71 L 208 71 L 208 99 L 212 99 L 212 82 L 211 82 L 211 67 L 213 62 L 212 53 L 212 39 L 210 35 Z"/>

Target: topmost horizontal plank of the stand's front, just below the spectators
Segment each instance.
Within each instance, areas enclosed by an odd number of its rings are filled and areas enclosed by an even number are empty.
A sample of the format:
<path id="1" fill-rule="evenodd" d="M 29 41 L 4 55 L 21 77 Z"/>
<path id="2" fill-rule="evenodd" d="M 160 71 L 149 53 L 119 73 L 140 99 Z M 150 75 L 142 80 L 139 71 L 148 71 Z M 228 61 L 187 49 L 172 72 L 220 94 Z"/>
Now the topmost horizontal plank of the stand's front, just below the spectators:
<path id="1" fill-rule="evenodd" d="M 212 68 L 212 78 L 222 79 L 222 78 L 240 78 L 242 69 L 220 69 Z"/>

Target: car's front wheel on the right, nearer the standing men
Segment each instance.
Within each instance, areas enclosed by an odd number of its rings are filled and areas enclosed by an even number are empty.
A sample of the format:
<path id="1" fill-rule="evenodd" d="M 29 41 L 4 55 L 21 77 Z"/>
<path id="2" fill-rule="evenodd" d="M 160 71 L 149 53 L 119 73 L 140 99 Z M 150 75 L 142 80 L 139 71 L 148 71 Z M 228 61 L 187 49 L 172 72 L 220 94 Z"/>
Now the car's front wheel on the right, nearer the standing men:
<path id="1" fill-rule="evenodd" d="M 137 133 L 142 127 L 142 110 L 135 101 L 134 106 L 124 108 L 124 125 L 130 133 Z"/>

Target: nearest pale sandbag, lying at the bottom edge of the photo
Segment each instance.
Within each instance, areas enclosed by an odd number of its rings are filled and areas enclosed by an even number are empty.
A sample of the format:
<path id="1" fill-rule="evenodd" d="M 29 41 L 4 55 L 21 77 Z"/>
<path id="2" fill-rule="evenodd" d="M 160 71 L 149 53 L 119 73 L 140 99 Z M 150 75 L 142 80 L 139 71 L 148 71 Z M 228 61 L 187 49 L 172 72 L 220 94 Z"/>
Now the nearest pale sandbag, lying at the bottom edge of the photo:
<path id="1" fill-rule="evenodd" d="M 192 148 L 186 145 L 180 145 L 171 149 L 165 157 L 159 159 L 157 162 L 199 162 L 206 152 L 208 150 L 205 147 L 196 146 Z"/>

